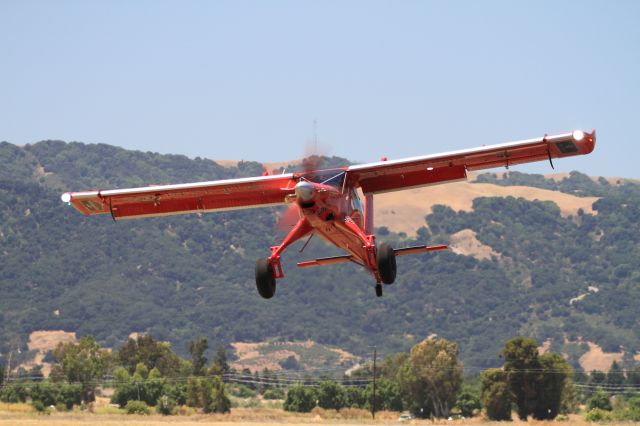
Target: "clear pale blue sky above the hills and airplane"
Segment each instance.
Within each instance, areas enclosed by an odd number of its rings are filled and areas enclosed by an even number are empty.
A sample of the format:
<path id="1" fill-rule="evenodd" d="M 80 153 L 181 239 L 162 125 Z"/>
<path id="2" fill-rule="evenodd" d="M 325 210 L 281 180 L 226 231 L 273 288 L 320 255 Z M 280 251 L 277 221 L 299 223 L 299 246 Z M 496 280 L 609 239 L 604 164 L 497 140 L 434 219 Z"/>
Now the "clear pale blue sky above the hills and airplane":
<path id="1" fill-rule="evenodd" d="M 0 140 L 354 161 L 571 131 L 640 178 L 640 2 L 0 0 Z M 549 173 L 548 164 L 518 170 Z"/>

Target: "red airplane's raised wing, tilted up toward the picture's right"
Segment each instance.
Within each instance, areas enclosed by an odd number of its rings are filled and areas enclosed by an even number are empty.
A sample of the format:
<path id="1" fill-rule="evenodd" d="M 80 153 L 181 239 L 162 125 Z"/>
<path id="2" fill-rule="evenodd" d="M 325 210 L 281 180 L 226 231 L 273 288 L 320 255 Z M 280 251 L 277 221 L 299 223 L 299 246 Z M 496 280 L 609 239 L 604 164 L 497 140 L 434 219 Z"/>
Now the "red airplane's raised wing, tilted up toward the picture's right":
<path id="1" fill-rule="evenodd" d="M 350 166 L 350 182 L 365 194 L 376 194 L 466 179 L 467 170 L 509 167 L 515 164 L 589 154 L 596 132 L 576 130 L 499 145 L 445 152 L 442 154 L 380 161 Z M 551 163 L 553 165 L 553 162 Z"/>

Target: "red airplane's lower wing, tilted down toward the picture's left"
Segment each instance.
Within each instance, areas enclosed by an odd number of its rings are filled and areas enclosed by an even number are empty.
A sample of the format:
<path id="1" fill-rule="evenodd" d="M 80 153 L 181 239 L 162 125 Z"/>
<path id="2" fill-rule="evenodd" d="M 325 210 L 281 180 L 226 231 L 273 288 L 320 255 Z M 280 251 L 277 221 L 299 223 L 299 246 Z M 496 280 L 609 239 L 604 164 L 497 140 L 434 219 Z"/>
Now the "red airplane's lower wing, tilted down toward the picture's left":
<path id="1" fill-rule="evenodd" d="M 158 185 L 109 191 L 67 192 L 62 201 L 85 215 L 114 219 L 237 210 L 284 203 L 293 193 L 293 174 Z"/>

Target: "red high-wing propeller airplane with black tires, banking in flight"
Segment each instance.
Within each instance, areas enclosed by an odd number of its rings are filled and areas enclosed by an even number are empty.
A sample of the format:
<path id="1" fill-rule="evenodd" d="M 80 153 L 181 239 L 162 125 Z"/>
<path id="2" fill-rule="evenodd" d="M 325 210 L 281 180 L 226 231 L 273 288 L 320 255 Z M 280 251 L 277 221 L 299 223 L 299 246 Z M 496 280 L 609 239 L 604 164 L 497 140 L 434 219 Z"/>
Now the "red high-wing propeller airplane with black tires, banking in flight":
<path id="1" fill-rule="evenodd" d="M 284 277 L 280 256 L 295 241 L 318 235 L 345 255 L 298 263 L 299 267 L 353 262 L 382 284 L 396 278 L 396 256 L 447 249 L 414 246 L 394 249 L 376 244 L 373 234 L 373 196 L 426 185 L 464 180 L 469 170 L 509 167 L 539 160 L 589 154 L 596 142 L 591 133 L 576 130 L 518 142 L 483 146 L 436 155 L 382 159 L 339 169 L 266 175 L 212 182 L 159 185 L 108 191 L 66 192 L 62 201 L 85 215 L 110 214 L 114 220 L 213 212 L 290 203 L 297 223 L 271 255 L 256 263 L 256 286 L 265 299 L 273 297 L 276 280 Z M 358 189 L 364 194 L 360 200 Z M 308 242 L 308 241 L 307 241 Z M 305 244 L 306 245 L 306 244 Z"/>

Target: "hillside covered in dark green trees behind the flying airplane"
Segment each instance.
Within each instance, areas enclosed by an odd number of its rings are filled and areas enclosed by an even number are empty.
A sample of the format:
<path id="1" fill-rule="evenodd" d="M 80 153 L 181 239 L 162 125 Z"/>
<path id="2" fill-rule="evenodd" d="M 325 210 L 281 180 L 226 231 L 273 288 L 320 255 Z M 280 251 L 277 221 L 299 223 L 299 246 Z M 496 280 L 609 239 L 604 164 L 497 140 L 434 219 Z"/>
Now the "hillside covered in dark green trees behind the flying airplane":
<path id="1" fill-rule="evenodd" d="M 327 159 L 330 166 L 346 163 Z M 128 151 L 108 145 L 44 141 L 0 144 L 0 352 L 33 330 L 92 334 L 118 346 L 150 332 L 186 352 L 186 342 L 312 339 L 366 353 L 407 350 L 431 334 L 456 341 L 468 367 L 498 364 L 516 334 L 553 339 L 575 363 L 579 345 L 640 349 L 640 186 L 572 173 L 481 176 L 499 185 L 539 186 L 598 196 L 597 215 L 563 218 L 550 202 L 481 198 L 473 212 L 438 207 L 420 242 L 447 242 L 472 229 L 502 254 L 479 261 L 453 253 L 398 259 L 383 298 L 355 265 L 299 270 L 295 262 L 336 254 L 314 241 L 284 257 L 276 297 L 255 290 L 254 264 L 282 237 L 278 209 L 113 223 L 63 205 L 60 193 L 89 188 L 180 183 L 257 175 L 262 166 L 224 168 L 211 160 Z M 427 223 L 425 222 L 425 225 Z M 396 246 L 414 243 L 393 233 Z M 598 292 L 589 292 L 597 287 Z M 587 294 L 588 293 L 588 294 Z M 570 299 L 587 294 L 570 304 Z"/>

